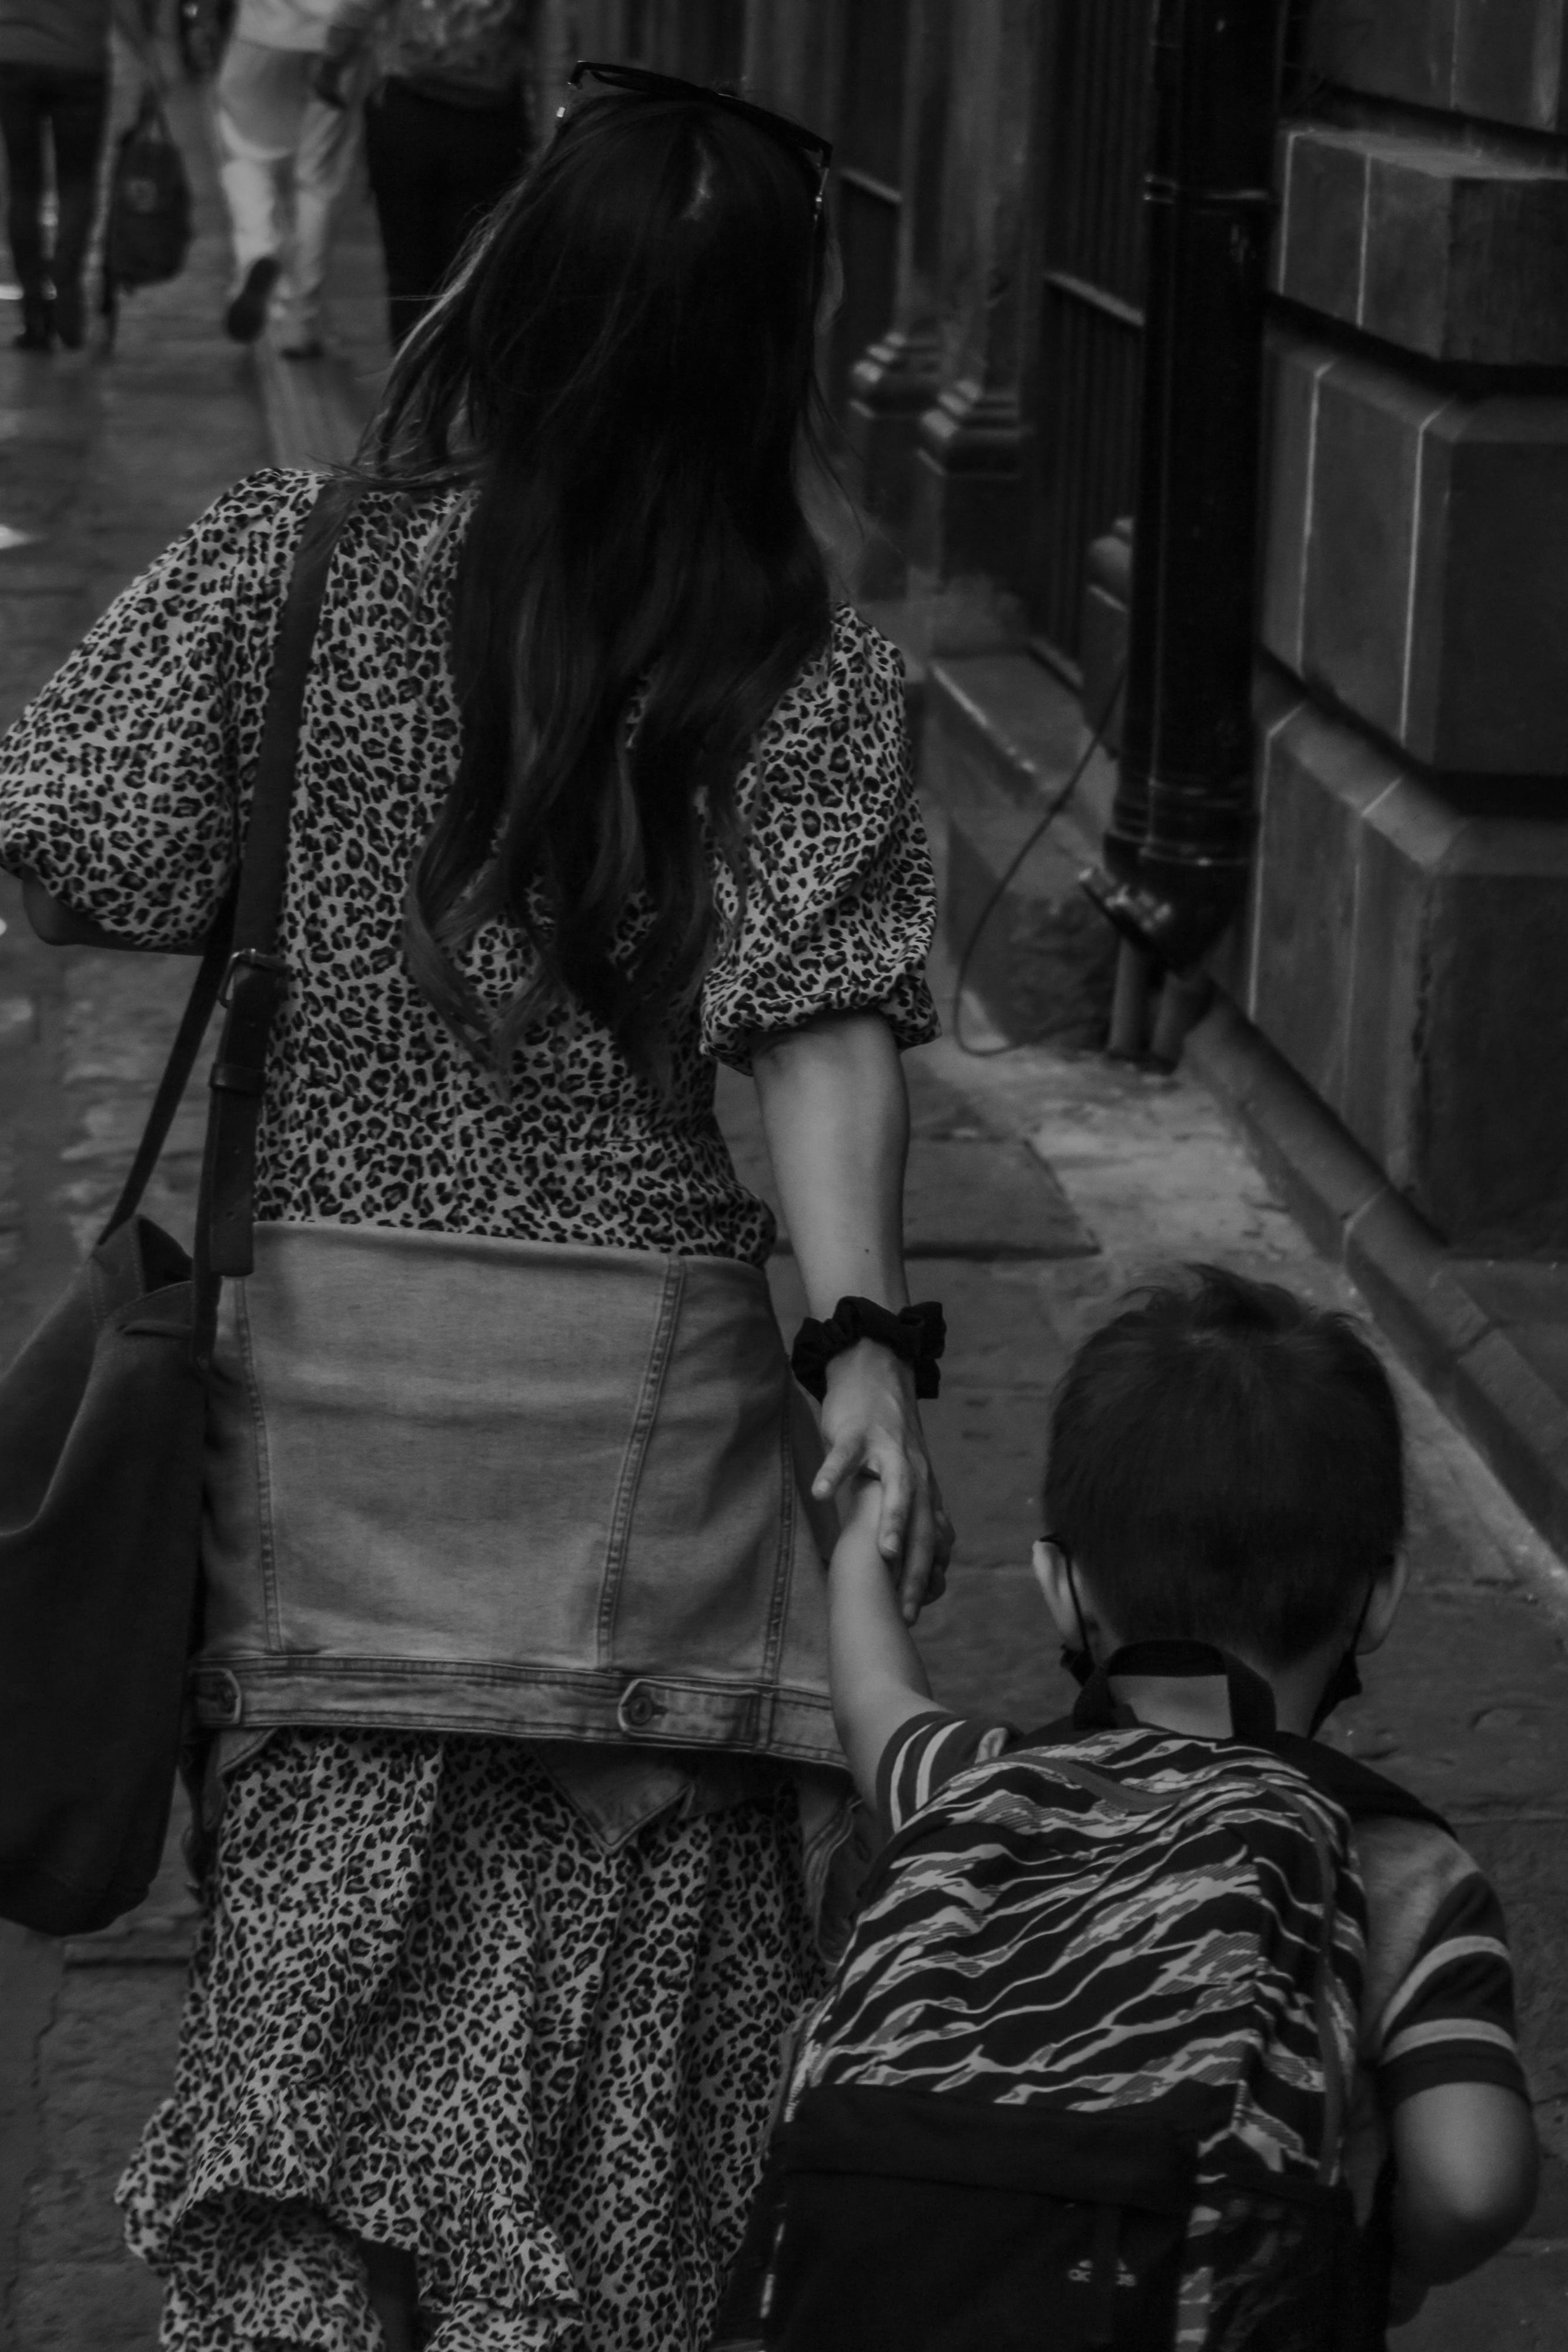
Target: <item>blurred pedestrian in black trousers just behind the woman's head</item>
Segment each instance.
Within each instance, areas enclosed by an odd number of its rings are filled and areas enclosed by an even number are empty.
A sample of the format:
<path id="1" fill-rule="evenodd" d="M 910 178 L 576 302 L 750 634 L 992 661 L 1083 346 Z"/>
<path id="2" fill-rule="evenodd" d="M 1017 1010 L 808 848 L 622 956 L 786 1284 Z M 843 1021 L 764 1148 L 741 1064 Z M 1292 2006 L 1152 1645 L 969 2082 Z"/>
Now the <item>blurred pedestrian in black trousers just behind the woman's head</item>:
<path id="1" fill-rule="evenodd" d="M 336 103 L 374 45 L 364 153 L 393 350 L 529 160 L 531 31 L 534 0 L 336 0 L 317 89 Z"/>

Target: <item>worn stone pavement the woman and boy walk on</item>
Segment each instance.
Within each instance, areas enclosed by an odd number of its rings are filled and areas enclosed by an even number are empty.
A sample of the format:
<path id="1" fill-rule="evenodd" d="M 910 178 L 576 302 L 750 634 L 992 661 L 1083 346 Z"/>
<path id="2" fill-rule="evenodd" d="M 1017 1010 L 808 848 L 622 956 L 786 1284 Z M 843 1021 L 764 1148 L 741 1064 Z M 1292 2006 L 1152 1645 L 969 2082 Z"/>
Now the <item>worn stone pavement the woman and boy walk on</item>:
<path id="1" fill-rule="evenodd" d="M 209 167 L 186 108 L 202 238 L 174 287 L 127 313 L 101 362 L 0 353 L 0 722 L 108 595 L 216 489 L 263 461 L 252 362 L 214 320 L 223 296 Z M 357 341 L 355 341 L 357 339 Z M 355 313 L 350 360 L 374 320 Z M 0 1350 L 9 1355 L 89 1242 L 129 1150 L 188 969 L 169 957 L 49 953 L 0 884 Z M 980 1061 L 950 1040 L 912 1056 L 910 1244 L 922 1296 L 952 1322 L 933 1442 L 961 1548 L 924 1639 L 938 1693 L 1018 1719 L 1060 1712 L 1025 1569 L 1046 1392 L 1077 1336 L 1140 1272 L 1213 1256 L 1354 1298 L 1269 1195 L 1220 1110 L 1046 1049 Z M 736 1152 L 766 1164 L 741 1082 Z M 186 1110 L 153 1211 L 188 1221 L 200 1112 Z M 773 1265 L 799 1315 L 792 1261 Z M 1528 2237 L 1434 2296 L 1399 2352 L 1559 2352 L 1568 2343 L 1568 1578 L 1474 1451 L 1401 1376 L 1413 1430 L 1415 1583 L 1368 1693 L 1356 1755 L 1406 1776 L 1460 1825 L 1509 1905 L 1526 2042 L 1554 2152 Z M 110 2194 L 167 2089 L 190 1900 L 172 1858 L 120 1929 L 52 1945 L 0 1931 L 0 2343 L 9 2352 L 150 2352 L 158 2293 L 120 2253 Z"/>

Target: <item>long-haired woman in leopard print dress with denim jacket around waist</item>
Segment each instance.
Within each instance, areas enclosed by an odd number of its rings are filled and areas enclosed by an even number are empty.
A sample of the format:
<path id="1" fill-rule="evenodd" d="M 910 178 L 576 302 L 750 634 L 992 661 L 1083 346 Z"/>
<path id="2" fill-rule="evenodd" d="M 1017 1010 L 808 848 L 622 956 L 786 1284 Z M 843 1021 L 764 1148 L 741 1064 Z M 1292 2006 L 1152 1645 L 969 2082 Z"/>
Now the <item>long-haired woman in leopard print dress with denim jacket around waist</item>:
<path id="1" fill-rule="evenodd" d="M 712 1061 L 811 1312 L 903 1308 L 931 873 L 898 656 L 797 496 L 820 141 L 578 80 L 400 360 L 306 701 L 216 1853 L 122 2183 L 176 2352 L 696 2352 L 818 1976 L 823 1595 Z M 122 941 L 223 898 L 313 496 L 221 499 L 5 746 L 0 858 Z M 950 1529 L 907 1350 L 825 1352 L 813 1498 L 882 1482 L 912 1613 Z"/>

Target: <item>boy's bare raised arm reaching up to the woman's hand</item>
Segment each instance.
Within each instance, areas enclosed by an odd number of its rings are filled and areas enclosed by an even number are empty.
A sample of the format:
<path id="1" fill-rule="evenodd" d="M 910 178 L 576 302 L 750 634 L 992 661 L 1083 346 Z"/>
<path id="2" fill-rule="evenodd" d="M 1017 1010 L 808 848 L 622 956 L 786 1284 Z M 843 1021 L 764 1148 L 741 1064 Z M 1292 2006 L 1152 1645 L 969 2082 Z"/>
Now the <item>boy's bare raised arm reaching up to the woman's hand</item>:
<path id="1" fill-rule="evenodd" d="M 832 1719 L 853 1783 L 877 1804 L 877 1764 L 914 1715 L 931 1712 L 931 1684 L 898 1606 L 893 1566 L 882 1557 L 875 1479 L 853 1489 L 827 1569 L 827 1658 Z"/>

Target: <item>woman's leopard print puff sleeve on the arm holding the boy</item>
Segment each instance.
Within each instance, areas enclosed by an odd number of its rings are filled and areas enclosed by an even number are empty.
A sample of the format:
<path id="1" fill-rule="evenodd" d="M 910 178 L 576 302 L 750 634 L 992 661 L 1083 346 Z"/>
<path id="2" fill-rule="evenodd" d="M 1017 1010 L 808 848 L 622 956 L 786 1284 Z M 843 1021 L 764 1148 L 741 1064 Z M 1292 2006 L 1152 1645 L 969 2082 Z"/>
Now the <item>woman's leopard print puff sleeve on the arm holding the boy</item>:
<path id="1" fill-rule="evenodd" d="M 931 851 L 914 804 L 903 659 L 853 607 L 757 739 L 748 884 L 715 866 L 719 948 L 703 1051 L 750 1070 L 748 1040 L 825 1011 L 882 1011 L 900 1047 L 938 1033 L 926 985 Z"/>

